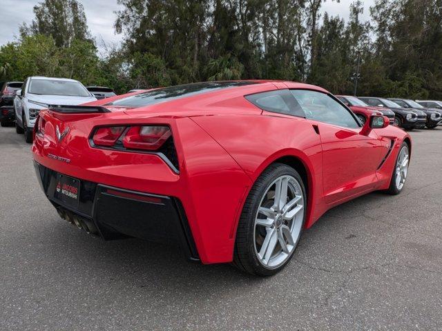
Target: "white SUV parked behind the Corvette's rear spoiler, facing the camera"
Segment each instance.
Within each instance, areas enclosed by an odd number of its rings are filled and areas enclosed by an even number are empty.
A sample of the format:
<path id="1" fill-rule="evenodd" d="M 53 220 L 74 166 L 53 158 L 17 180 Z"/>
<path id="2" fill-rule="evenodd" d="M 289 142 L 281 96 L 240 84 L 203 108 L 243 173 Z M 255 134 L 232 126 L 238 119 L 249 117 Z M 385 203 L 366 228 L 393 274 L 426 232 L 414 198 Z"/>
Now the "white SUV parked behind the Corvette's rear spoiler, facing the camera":
<path id="1" fill-rule="evenodd" d="M 39 111 L 49 105 L 79 105 L 95 101 L 79 81 L 65 78 L 28 77 L 14 99 L 15 130 L 32 143 L 32 128 Z"/>

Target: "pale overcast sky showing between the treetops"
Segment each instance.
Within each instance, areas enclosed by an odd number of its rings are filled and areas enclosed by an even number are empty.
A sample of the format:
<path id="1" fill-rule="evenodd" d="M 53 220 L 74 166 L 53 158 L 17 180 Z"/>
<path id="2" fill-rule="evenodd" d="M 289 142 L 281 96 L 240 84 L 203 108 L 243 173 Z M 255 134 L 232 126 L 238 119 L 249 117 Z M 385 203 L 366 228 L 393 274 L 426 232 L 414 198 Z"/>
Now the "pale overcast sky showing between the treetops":
<path id="1" fill-rule="evenodd" d="M 14 41 L 19 34 L 19 25 L 26 22 L 30 23 L 34 17 L 32 8 L 38 0 L 1 0 L 0 17 L 0 45 Z M 115 34 L 113 23 L 115 22 L 115 10 L 119 10 L 117 0 L 80 0 L 86 12 L 88 27 L 90 33 L 99 40 L 103 39 L 106 43 L 120 43 L 121 34 Z M 339 15 L 344 19 L 349 16 L 349 3 L 352 0 L 340 0 L 340 3 L 327 0 L 323 4 L 322 12 L 329 12 L 335 16 Z M 365 0 L 363 19 L 369 18 L 369 6 L 372 6 L 374 0 Z M 99 46 L 99 45 L 98 45 Z"/>

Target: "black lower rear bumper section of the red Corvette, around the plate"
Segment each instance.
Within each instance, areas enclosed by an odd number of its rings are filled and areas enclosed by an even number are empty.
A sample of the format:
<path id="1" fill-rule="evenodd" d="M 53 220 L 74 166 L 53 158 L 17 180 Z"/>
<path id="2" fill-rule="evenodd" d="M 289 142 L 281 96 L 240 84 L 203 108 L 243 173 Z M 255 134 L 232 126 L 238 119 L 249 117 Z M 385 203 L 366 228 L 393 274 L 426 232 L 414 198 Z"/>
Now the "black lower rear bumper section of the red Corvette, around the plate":
<path id="1" fill-rule="evenodd" d="M 136 237 L 179 245 L 188 259 L 199 259 L 179 199 L 79 179 L 79 199 L 73 206 L 55 194 L 59 173 L 37 162 L 34 166 L 46 197 L 62 218 L 77 227 L 105 240 Z"/>

